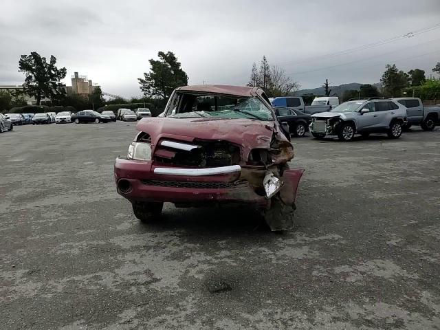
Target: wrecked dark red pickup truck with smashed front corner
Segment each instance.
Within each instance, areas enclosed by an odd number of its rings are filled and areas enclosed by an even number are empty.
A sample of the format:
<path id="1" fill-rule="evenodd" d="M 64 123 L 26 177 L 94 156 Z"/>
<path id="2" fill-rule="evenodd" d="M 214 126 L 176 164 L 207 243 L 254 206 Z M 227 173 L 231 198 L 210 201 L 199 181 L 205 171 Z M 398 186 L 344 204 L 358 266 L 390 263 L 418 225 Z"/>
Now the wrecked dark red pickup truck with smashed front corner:
<path id="1" fill-rule="evenodd" d="M 272 230 L 294 226 L 303 170 L 263 89 L 179 87 L 163 117 L 144 118 L 126 157 L 115 160 L 118 193 L 140 221 L 177 207 L 254 205 Z M 288 136 L 288 135 L 287 135 Z"/>

